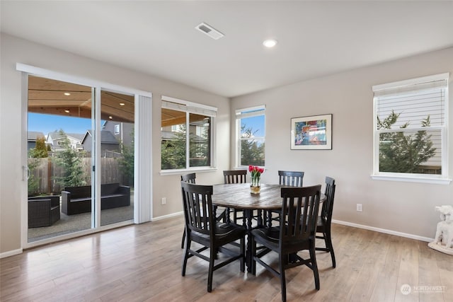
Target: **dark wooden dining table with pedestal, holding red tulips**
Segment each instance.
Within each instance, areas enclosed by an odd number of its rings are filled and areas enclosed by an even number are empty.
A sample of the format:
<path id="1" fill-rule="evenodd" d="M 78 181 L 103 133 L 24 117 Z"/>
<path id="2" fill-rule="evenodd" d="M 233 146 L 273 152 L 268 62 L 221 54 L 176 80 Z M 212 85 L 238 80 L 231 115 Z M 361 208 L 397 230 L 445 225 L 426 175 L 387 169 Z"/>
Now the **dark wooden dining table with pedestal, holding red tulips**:
<path id="1" fill-rule="evenodd" d="M 220 184 L 213 186 L 212 204 L 227 209 L 239 209 L 244 212 L 243 224 L 247 230 L 246 241 L 246 265 L 247 272 L 254 274 L 251 230 L 256 227 L 272 226 L 272 214 L 270 210 L 282 209 L 281 188 L 283 185 L 261 184 L 260 193 L 252 194 L 250 184 Z M 321 193 L 320 202 L 326 200 Z M 258 211 L 253 215 L 253 211 Z M 253 222 L 256 217 L 256 222 Z M 229 216 L 227 217 L 229 219 Z M 235 221 L 236 222 L 236 221 Z"/>

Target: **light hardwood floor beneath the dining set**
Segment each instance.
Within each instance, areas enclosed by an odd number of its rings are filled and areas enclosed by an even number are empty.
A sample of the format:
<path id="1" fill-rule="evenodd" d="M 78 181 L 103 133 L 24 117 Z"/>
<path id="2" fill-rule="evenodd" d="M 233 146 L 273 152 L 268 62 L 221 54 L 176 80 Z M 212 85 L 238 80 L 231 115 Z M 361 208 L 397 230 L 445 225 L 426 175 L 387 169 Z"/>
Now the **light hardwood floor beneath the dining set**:
<path id="1" fill-rule="evenodd" d="M 182 231 L 178 217 L 1 259 L 0 301 L 281 301 L 280 282 L 260 265 L 256 277 L 239 262 L 217 270 L 212 293 L 204 260 L 190 258 L 181 277 Z M 287 270 L 288 301 L 453 301 L 453 257 L 425 242 L 334 224 L 333 247 L 335 269 L 316 254 L 319 291 L 308 267 Z"/>

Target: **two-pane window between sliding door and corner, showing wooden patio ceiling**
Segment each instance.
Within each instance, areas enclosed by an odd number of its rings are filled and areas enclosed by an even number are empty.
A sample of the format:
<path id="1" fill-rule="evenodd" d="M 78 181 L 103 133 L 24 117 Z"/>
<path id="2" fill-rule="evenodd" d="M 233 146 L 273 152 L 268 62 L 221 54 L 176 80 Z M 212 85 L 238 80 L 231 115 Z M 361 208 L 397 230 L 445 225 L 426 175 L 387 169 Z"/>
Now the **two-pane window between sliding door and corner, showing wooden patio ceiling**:
<path id="1" fill-rule="evenodd" d="M 214 166 L 213 122 L 217 108 L 162 97 L 161 169 Z"/>

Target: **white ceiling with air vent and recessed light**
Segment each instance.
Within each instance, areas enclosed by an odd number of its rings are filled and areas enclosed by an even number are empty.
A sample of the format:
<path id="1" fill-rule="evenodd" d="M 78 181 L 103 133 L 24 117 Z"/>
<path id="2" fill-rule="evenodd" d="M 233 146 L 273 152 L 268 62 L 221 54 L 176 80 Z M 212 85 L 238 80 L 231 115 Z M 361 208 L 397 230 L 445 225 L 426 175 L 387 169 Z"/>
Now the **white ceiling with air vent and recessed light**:
<path id="1" fill-rule="evenodd" d="M 452 47 L 453 1 L 1 0 L 1 31 L 233 97 Z"/>

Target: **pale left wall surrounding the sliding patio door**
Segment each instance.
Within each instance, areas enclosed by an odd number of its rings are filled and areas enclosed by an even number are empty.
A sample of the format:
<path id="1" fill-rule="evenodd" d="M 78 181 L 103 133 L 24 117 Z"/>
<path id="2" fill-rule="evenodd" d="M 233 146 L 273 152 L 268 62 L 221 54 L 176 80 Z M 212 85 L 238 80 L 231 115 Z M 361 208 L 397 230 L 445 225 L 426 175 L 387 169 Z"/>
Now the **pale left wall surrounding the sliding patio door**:
<path id="1" fill-rule="evenodd" d="M 180 175 L 159 174 L 161 95 L 180 98 L 218 108 L 217 116 L 217 167 L 210 173 L 199 173 L 200 183 L 223 182 L 222 170 L 229 168 L 229 99 L 200 91 L 171 81 L 146 74 L 139 74 L 119 66 L 105 64 L 69 52 L 62 52 L 44 45 L 18 39 L 1 33 L 1 101 L 0 101 L 0 255 L 21 250 L 21 204 L 26 205 L 26 196 L 21 196 L 21 157 L 27 142 L 21 139 L 25 119 L 21 112 L 21 73 L 16 63 L 37 66 L 70 76 L 112 83 L 125 88 L 134 88 L 153 93 L 152 143 L 153 164 L 153 216 L 166 216 L 182 211 L 180 201 Z M 169 62 L 171 64 L 171 62 Z M 150 71 L 152 73 L 152 71 Z M 161 205 L 166 197 L 167 204 Z M 149 201 L 151 202 L 151 201 Z M 26 220 L 25 220 L 26 223 Z M 181 231 L 183 226 L 181 226 Z"/>

